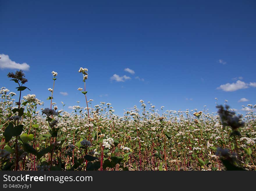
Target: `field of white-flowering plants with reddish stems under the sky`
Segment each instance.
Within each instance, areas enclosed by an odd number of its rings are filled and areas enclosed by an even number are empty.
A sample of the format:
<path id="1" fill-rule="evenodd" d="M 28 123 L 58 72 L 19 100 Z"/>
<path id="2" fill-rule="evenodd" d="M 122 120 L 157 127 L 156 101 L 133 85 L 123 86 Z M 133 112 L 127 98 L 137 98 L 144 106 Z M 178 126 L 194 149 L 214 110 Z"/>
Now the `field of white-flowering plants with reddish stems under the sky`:
<path id="1" fill-rule="evenodd" d="M 256 169 L 256 105 L 249 104 L 246 115 L 226 104 L 211 114 L 205 108 L 159 115 L 150 102 L 138 100 L 133 110 L 117 116 L 111 103 L 92 107 L 86 97 L 88 69 L 78 72 L 85 102 L 71 113 L 53 102 L 57 72 L 45 103 L 27 94 L 22 71 L 7 75 L 17 92 L 0 90 L 1 170 Z M 16 94 L 19 100 L 13 99 Z"/>

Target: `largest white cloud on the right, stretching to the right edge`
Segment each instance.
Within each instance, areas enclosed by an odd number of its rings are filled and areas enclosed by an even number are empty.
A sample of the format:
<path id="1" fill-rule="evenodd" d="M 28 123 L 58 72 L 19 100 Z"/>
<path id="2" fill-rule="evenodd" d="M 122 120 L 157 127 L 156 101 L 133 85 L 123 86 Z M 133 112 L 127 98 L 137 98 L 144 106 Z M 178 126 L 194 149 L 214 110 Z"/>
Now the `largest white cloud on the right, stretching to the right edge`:
<path id="1" fill-rule="evenodd" d="M 234 92 L 236 90 L 246 89 L 249 87 L 256 87 L 256 82 L 250 82 L 248 84 L 243 81 L 237 80 L 236 83 L 226 83 L 226 84 L 220 85 L 217 89 L 223 90 L 225 92 Z"/>

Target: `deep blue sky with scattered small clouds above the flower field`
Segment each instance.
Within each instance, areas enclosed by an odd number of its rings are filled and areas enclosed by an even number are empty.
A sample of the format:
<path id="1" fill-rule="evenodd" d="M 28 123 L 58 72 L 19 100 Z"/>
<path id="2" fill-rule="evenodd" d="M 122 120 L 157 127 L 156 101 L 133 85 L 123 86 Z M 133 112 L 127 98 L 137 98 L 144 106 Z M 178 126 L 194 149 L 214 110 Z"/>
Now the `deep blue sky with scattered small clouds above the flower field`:
<path id="1" fill-rule="evenodd" d="M 49 107 L 56 71 L 54 102 L 85 107 L 86 67 L 88 99 L 118 115 L 141 99 L 210 112 L 226 99 L 241 112 L 256 104 L 255 10 L 255 1 L 1 1 L 0 86 L 15 91 L 10 67 L 27 69 L 23 94 Z"/>

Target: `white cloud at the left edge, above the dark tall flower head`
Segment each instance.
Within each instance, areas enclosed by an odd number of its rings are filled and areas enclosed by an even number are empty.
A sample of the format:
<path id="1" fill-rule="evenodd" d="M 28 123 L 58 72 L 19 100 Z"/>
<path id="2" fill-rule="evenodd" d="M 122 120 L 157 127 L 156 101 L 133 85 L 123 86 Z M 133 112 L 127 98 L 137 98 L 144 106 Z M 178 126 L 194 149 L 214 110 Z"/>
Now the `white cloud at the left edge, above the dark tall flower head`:
<path id="1" fill-rule="evenodd" d="M 1 69 L 5 69 L 5 68 L 9 68 L 9 69 L 19 69 L 19 70 L 29 70 L 29 65 L 27 63 L 16 63 L 14 61 L 12 61 L 8 55 L 6 54 L 0 54 L 0 68 Z"/>

